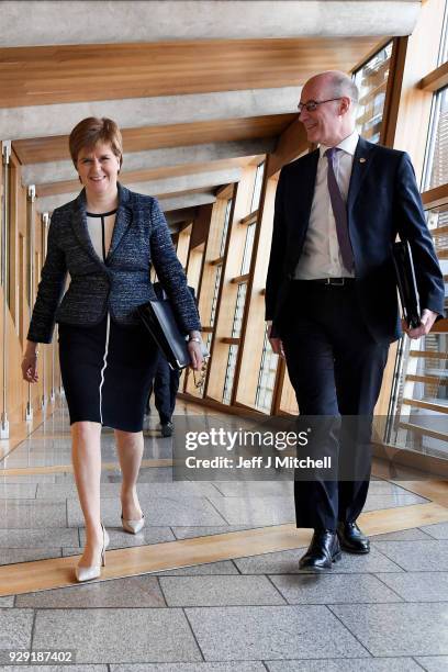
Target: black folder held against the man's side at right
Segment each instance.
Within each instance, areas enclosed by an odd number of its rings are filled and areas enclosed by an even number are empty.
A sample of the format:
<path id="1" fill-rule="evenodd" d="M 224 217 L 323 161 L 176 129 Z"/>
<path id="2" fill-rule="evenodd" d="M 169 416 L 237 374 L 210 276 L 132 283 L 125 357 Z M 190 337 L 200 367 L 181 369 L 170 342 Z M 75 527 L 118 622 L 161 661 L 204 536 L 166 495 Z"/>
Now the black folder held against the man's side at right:
<path id="1" fill-rule="evenodd" d="M 403 316 L 407 325 L 411 328 L 415 328 L 421 325 L 421 309 L 414 261 L 408 240 L 394 243 L 392 245 L 392 256 Z"/>

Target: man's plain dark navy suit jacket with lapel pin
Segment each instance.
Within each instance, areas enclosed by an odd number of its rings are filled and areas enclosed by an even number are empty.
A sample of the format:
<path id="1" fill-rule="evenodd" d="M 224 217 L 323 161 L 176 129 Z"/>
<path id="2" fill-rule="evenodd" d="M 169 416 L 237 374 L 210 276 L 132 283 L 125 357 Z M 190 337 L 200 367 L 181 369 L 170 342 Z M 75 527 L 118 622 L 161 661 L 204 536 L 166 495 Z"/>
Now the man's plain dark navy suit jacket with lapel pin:
<path id="1" fill-rule="evenodd" d="M 275 336 L 281 336 L 287 326 L 283 309 L 310 222 L 318 156 L 316 149 L 280 173 L 266 284 L 266 320 L 273 321 Z M 397 233 L 412 247 L 422 310 L 443 315 L 444 279 L 408 155 L 360 137 L 347 211 L 360 318 L 373 338 L 391 343 L 401 335 L 392 261 L 392 243 Z"/>

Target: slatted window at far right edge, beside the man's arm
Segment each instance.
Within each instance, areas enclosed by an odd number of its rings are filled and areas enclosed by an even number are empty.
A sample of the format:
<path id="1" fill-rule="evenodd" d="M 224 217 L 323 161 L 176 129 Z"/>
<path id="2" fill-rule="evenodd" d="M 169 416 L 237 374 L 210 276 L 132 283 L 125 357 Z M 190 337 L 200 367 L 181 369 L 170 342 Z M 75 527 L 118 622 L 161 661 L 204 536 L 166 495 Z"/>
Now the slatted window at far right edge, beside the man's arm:
<path id="1" fill-rule="evenodd" d="M 448 183 L 447 90 L 434 96 L 423 180 L 425 191 Z M 428 205 L 426 220 L 445 278 L 447 307 L 448 198 L 436 208 Z M 441 328 L 418 340 L 403 338 L 401 341 L 385 439 L 400 447 L 446 458 L 448 333 Z"/>

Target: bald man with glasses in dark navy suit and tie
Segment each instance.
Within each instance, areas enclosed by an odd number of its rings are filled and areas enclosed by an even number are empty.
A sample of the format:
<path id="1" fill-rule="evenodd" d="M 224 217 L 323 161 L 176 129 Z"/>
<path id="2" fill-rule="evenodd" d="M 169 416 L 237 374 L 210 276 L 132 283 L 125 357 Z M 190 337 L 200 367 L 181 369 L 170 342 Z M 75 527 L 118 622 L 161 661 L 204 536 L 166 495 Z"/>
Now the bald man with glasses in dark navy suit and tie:
<path id="1" fill-rule="evenodd" d="M 411 244 L 423 309 L 408 336 L 427 334 L 444 310 L 443 276 L 410 157 L 359 137 L 357 100 L 344 72 L 305 83 L 300 121 L 320 147 L 285 166 L 277 189 L 266 320 L 301 415 L 372 417 L 389 345 L 401 335 L 391 254 L 397 234 Z M 340 468 L 344 446 L 334 436 L 328 433 L 328 446 L 336 444 Z M 301 569 L 332 568 L 340 547 L 369 552 L 356 519 L 370 456 L 360 463 L 352 480 L 295 481 L 296 525 L 314 529 Z"/>

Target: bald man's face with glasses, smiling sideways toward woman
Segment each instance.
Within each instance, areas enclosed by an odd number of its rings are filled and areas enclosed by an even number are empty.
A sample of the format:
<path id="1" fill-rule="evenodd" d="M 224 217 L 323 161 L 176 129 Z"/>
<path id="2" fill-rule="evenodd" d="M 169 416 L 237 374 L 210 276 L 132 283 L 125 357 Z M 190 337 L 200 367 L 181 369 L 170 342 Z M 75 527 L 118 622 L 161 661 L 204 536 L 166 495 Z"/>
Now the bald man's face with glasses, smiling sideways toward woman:
<path id="1" fill-rule="evenodd" d="M 324 79 L 310 80 L 302 89 L 301 103 L 328 100 L 335 98 L 331 88 Z M 316 107 L 313 112 L 303 108 L 300 113 L 300 121 L 305 126 L 306 136 L 310 143 L 332 145 L 337 137 L 340 125 L 340 103 L 341 99 L 332 100 Z"/>

